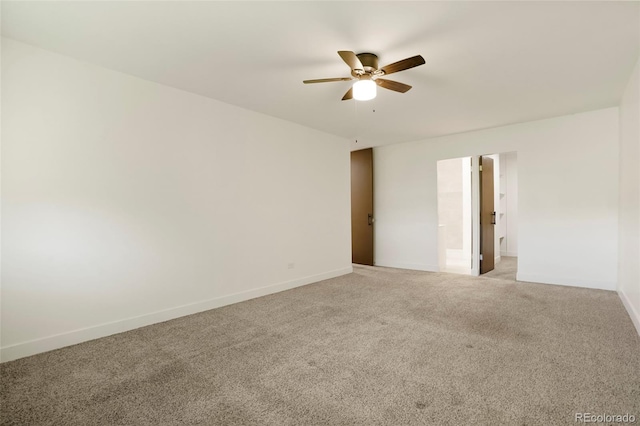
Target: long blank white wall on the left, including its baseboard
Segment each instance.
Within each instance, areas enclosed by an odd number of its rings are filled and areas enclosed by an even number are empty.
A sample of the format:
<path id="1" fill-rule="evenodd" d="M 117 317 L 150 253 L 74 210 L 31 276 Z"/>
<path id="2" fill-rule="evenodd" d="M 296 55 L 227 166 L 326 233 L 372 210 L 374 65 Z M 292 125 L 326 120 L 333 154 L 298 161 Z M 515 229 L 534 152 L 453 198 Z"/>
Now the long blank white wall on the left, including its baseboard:
<path id="1" fill-rule="evenodd" d="M 2 74 L 3 360 L 351 271 L 346 139 L 12 40 Z"/>

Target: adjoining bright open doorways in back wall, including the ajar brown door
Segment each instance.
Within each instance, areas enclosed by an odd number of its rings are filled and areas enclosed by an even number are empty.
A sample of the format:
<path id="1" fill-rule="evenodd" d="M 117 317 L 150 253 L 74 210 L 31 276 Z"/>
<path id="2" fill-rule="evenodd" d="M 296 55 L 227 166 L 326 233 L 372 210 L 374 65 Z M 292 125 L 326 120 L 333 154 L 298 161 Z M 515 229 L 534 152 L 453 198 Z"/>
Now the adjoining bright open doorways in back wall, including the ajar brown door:
<path id="1" fill-rule="evenodd" d="M 515 281 L 517 153 L 440 160 L 437 185 L 440 271 Z"/>

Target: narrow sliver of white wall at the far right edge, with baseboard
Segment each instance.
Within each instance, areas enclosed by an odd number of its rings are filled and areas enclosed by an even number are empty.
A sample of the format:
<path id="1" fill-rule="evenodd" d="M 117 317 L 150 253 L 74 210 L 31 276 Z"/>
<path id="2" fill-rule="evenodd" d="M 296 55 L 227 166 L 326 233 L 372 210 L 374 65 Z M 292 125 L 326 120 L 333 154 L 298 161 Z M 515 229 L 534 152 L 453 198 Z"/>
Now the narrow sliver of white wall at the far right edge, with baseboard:
<path id="1" fill-rule="evenodd" d="M 620 104 L 620 263 L 618 294 L 640 333 L 640 61 Z"/>

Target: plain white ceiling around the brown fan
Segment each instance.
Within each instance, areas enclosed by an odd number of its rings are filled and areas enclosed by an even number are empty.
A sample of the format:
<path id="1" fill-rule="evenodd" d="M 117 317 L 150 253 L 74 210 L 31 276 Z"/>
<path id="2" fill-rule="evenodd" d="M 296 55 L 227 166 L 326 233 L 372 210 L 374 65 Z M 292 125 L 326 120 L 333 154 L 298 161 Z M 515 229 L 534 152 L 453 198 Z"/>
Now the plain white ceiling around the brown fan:
<path id="1" fill-rule="evenodd" d="M 367 147 L 618 105 L 640 3 L 2 1 L 2 34 Z M 302 84 L 349 76 L 338 50 L 427 63 L 343 102 Z"/>

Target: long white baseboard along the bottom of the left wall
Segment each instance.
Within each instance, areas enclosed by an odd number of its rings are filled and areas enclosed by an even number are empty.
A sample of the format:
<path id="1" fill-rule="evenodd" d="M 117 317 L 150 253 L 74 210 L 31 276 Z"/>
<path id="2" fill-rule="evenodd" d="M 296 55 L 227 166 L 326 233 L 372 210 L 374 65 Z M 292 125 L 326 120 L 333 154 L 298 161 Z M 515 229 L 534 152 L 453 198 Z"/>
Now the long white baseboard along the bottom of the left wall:
<path id="1" fill-rule="evenodd" d="M 78 343 L 86 342 L 88 340 L 94 340 L 100 337 L 122 333 L 124 331 L 129 331 L 136 328 L 145 327 L 147 325 L 180 318 L 186 315 L 196 314 L 198 312 L 232 305 L 234 303 L 243 302 L 249 299 L 255 299 L 256 297 L 266 296 L 268 294 L 278 293 L 284 290 L 290 290 L 292 288 L 301 287 L 318 281 L 346 275 L 351 272 L 353 272 L 353 267 L 348 266 L 346 268 L 336 269 L 333 271 L 324 272 L 322 274 L 298 278 L 295 280 L 272 284 L 265 287 L 241 291 L 239 293 L 234 293 L 227 296 L 215 297 L 213 299 L 176 306 L 169 309 L 163 309 L 161 311 L 151 312 L 149 314 L 144 314 L 133 318 L 113 321 L 93 327 L 82 328 L 66 333 L 44 337 L 41 339 L 35 339 L 27 342 L 5 346 L 0 349 L 0 360 L 2 362 L 11 361 L 14 359 L 24 358 L 26 356 L 35 355 L 54 349 L 60 349 L 65 346 L 75 345 Z"/>

